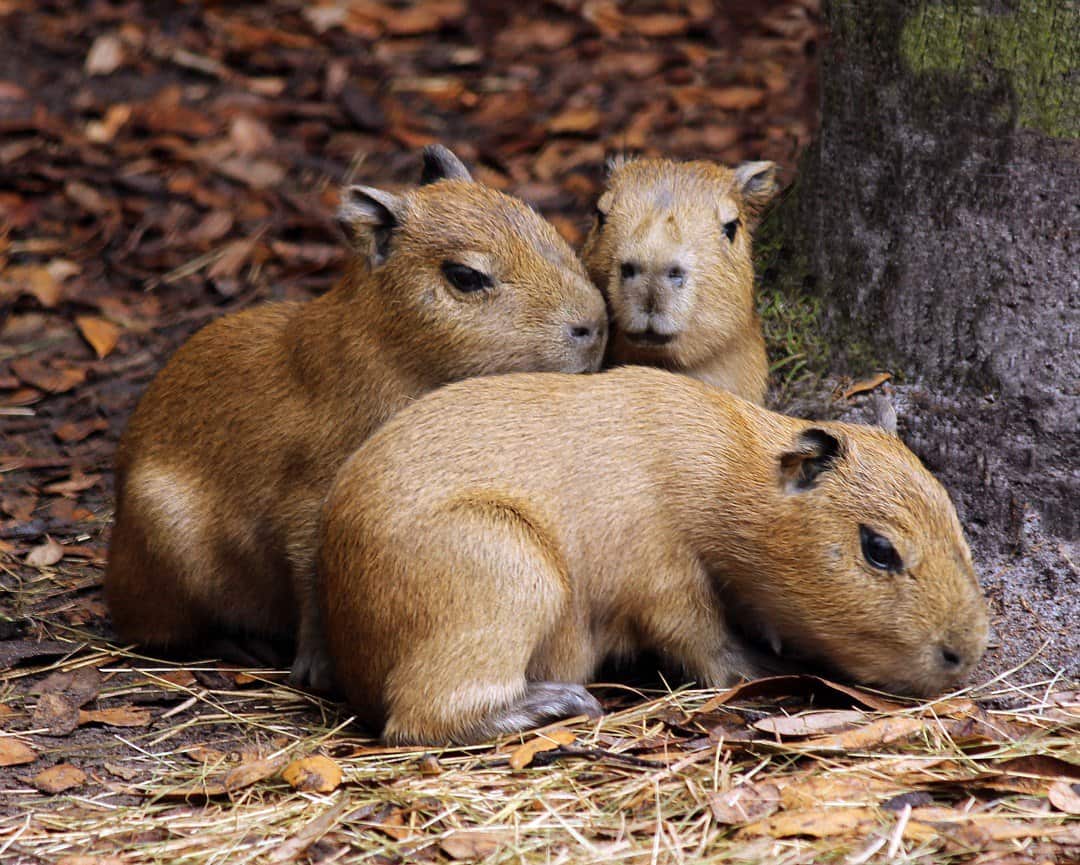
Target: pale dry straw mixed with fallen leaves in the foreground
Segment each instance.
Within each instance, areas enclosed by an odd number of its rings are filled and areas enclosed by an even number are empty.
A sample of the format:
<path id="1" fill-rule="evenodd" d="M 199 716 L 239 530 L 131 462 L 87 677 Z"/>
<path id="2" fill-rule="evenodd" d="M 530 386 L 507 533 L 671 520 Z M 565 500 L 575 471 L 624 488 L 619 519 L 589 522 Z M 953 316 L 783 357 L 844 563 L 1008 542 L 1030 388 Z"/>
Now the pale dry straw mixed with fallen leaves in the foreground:
<path id="1" fill-rule="evenodd" d="M 388 748 L 282 671 L 54 635 L 0 698 L 3 753 L 30 752 L 0 770 L 4 863 L 1080 861 L 1058 676 L 923 704 L 812 677 L 612 686 L 599 721 Z M 56 765 L 83 780 L 42 792 Z"/>

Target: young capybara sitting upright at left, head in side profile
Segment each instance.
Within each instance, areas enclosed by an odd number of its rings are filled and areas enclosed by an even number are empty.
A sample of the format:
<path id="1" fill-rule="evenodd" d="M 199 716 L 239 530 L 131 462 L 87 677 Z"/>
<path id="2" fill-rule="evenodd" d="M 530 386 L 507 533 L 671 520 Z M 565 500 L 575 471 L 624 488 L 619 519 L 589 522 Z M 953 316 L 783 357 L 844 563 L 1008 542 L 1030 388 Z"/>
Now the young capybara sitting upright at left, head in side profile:
<path id="1" fill-rule="evenodd" d="M 445 382 L 598 367 L 603 298 L 572 251 L 448 151 L 426 163 L 437 181 L 400 197 L 347 190 L 356 252 L 333 290 L 214 322 L 147 389 L 118 454 L 105 581 L 124 639 L 199 648 L 298 627 L 294 678 L 325 687 L 313 543 L 348 455 Z M 446 260 L 495 286 L 455 289 Z"/>

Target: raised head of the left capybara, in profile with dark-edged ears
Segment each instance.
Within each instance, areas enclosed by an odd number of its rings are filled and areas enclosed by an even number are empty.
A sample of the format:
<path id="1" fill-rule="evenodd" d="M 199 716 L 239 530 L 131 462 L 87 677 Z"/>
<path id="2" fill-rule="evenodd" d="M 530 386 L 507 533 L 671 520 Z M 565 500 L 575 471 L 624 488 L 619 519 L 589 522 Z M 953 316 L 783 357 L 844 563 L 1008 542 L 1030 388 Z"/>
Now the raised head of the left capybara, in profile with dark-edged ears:
<path id="1" fill-rule="evenodd" d="M 370 268 L 401 357 L 448 381 L 517 370 L 591 371 L 607 338 L 604 300 L 555 229 L 475 183 L 449 150 L 424 150 L 421 185 L 352 186 L 339 220 Z"/>

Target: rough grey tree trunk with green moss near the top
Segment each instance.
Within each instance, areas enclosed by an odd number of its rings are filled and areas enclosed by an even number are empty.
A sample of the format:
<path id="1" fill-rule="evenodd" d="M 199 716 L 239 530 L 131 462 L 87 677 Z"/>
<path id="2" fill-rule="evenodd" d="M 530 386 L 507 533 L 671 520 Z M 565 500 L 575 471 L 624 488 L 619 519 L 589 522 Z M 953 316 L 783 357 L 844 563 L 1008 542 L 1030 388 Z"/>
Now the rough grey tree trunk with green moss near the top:
<path id="1" fill-rule="evenodd" d="M 793 205 L 834 369 L 891 369 L 1004 666 L 1080 645 L 1080 12 L 833 0 Z M 1044 676 L 1032 665 L 1028 677 Z"/>

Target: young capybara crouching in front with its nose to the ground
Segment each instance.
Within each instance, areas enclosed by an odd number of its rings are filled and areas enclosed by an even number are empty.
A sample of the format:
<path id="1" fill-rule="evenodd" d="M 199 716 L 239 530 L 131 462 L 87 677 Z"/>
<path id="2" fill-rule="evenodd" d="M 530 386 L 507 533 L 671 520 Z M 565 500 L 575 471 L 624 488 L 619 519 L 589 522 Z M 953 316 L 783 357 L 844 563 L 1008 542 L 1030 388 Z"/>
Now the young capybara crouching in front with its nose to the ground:
<path id="1" fill-rule="evenodd" d="M 393 742 L 598 712 L 581 684 L 639 650 L 726 686 L 761 672 L 756 634 L 931 694 L 986 639 L 953 504 L 899 438 L 658 369 L 445 388 L 350 458 L 323 515 L 338 684 Z M 903 569 L 868 564 L 861 526 Z"/>

